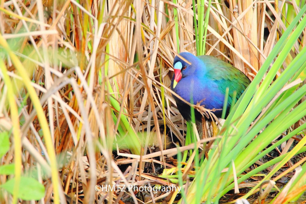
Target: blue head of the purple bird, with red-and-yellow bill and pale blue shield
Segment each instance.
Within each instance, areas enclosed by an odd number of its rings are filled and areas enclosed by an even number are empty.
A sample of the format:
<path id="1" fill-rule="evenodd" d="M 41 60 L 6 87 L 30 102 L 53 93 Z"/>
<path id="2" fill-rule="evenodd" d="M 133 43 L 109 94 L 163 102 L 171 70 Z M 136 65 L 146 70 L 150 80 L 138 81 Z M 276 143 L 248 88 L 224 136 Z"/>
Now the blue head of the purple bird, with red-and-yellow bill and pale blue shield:
<path id="1" fill-rule="evenodd" d="M 175 56 L 174 66 L 174 81 L 173 88 L 184 77 L 192 75 L 196 71 L 196 63 L 198 58 L 189 52 L 182 52 L 179 56 Z"/>

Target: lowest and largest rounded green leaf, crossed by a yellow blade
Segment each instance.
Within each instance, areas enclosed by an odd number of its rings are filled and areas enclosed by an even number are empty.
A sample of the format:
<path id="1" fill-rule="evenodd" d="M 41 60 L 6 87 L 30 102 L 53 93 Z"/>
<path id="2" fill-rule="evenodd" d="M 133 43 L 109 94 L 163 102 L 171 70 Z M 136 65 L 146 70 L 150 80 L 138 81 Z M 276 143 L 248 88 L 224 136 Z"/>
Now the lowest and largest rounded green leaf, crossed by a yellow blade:
<path id="1" fill-rule="evenodd" d="M 15 178 L 0 185 L 9 193 L 13 194 Z M 17 197 L 22 200 L 40 200 L 45 196 L 45 187 L 37 180 L 21 176 L 20 188 Z"/>

